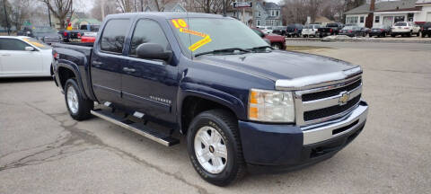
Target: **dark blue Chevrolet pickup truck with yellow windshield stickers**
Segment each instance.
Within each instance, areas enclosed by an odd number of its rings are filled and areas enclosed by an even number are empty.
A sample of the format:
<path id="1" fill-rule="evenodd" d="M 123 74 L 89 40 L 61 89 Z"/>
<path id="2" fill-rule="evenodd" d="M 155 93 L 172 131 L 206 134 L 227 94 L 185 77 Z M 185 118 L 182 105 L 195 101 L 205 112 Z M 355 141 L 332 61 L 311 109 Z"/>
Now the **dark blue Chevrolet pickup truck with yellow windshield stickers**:
<path id="1" fill-rule="evenodd" d="M 73 119 L 167 146 L 184 135 L 193 167 L 219 186 L 321 162 L 365 126 L 360 66 L 273 49 L 222 15 L 113 14 L 93 45 L 54 44 L 53 56 Z"/>

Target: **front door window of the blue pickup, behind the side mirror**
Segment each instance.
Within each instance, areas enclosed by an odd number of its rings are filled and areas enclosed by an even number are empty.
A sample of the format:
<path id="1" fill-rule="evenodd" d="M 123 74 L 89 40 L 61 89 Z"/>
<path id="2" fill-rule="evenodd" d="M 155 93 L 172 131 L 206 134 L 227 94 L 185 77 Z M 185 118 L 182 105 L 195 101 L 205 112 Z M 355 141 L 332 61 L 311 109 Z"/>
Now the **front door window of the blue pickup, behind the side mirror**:
<path id="1" fill-rule="evenodd" d="M 130 44 L 129 56 L 136 56 L 136 48 L 142 43 L 157 43 L 162 45 L 166 50 L 171 49 L 160 25 L 151 20 L 139 20 L 136 23 Z"/>

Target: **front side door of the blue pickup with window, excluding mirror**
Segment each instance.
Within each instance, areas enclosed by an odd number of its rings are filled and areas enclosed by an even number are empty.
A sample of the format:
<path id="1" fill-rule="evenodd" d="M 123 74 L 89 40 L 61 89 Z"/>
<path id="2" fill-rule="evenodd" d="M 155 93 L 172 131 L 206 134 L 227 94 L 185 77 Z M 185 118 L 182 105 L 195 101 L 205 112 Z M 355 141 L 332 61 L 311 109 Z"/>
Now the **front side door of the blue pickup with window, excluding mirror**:
<path id="1" fill-rule="evenodd" d="M 136 22 L 130 41 L 128 63 L 123 64 L 123 101 L 129 110 L 144 113 L 146 119 L 163 120 L 173 124 L 172 109 L 177 93 L 177 66 L 161 60 L 136 57 L 136 48 L 142 43 L 157 43 L 165 50 L 171 45 L 158 22 L 140 19 Z"/>

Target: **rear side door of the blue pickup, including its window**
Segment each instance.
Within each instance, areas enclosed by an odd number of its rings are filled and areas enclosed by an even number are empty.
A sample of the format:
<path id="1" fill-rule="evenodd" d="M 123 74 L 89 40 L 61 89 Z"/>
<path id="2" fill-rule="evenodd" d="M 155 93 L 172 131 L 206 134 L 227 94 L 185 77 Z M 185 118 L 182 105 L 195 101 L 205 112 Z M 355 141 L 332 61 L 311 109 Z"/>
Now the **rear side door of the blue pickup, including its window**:
<path id="1" fill-rule="evenodd" d="M 128 63 L 123 56 L 124 43 L 130 28 L 128 19 L 112 19 L 105 24 L 94 47 L 91 74 L 96 98 L 121 105 L 121 68 Z"/>

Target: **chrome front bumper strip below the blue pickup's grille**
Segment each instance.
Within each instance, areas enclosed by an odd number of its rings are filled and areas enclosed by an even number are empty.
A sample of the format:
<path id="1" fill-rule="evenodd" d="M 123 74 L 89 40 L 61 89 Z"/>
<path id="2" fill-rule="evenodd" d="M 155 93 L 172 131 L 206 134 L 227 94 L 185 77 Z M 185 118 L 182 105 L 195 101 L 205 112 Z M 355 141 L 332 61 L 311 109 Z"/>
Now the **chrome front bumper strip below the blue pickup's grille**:
<path id="1" fill-rule="evenodd" d="M 301 128 L 303 145 L 311 145 L 347 134 L 362 126 L 367 114 L 368 105 L 365 101 L 360 101 L 354 110 L 342 118 L 303 127 Z"/>

